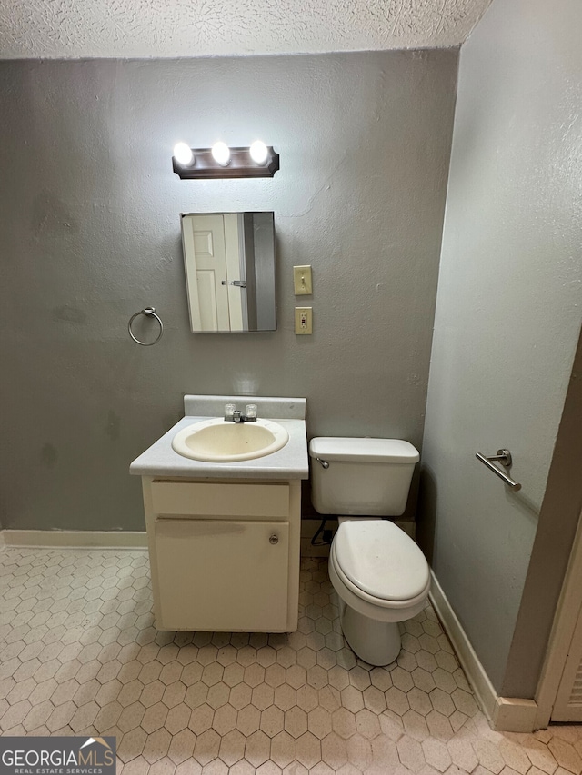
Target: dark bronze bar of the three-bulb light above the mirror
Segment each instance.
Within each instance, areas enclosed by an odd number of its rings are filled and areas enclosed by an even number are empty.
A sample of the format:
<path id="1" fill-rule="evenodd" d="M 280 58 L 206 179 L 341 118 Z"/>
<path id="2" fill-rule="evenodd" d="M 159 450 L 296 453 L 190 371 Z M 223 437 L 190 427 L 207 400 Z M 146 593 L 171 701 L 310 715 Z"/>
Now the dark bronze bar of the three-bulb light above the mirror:
<path id="1" fill-rule="evenodd" d="M 180 164 L 172 157 L 174 172 L 182 180 L 227 177 L 273 177 L 279 169 L 279 154 L 267 146 L 266 161 L 257 164 L 251 158 L 248 148 L 231 148 L 228 164 L 218 164 L 211 148 L 192 148 L 194 159 L 191 164 Z"/>

